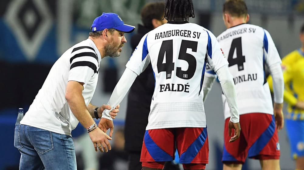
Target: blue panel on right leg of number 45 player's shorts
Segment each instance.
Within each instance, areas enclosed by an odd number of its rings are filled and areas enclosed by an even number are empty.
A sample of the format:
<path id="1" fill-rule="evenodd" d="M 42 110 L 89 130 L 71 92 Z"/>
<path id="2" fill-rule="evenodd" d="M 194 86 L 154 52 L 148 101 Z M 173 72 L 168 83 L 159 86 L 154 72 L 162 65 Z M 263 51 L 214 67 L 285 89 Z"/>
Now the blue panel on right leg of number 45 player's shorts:
<path id="1" fill-rule="evenodd" d="M 207 139 L 207 128 L 205 127 L 199 137 L 189 146 L 189 148 L 181 154 L 179 158 L 179 163 L 189 164 L 199 153 Z"/>

